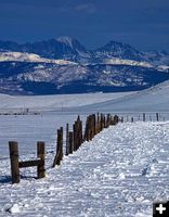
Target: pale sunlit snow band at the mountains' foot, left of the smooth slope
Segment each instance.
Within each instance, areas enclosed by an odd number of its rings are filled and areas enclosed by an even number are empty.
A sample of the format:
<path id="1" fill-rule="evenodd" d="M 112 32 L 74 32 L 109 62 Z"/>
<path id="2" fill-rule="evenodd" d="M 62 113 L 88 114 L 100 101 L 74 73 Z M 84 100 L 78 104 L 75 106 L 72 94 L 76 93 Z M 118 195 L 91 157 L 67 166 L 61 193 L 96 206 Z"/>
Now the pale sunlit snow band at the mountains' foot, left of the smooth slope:
<path id="1" fill-rule="evenodd" d="M 55 110 L 72 106 L 82 106 L 107 100 L 114 100 L 132 92 L 117 93 L 82 93 L 82 94 L 55 94 L 55 95 L 6 95 L 0 94 L 0 111 L 6 108 L 37 108 L 37 110 Z"/>

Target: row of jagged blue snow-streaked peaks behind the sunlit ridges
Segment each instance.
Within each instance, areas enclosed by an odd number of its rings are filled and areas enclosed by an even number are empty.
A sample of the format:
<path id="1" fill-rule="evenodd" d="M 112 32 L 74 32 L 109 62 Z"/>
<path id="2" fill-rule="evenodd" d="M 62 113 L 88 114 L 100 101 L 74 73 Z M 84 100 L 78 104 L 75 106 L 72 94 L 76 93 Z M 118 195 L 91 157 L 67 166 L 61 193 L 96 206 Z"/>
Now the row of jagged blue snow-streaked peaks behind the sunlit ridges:
<path id="1" fill-rule="evenodd" d="M 0 41 L 0 51 L 26 52 L 46 59 L 63 59 L 78 63 L 104 63 L 107 59 L 122 59 L 147 62 L 154 65 L 169 65 L 169 54 L 157 51 L 139 51 L 127 43 L 109 41 L 102 48 L 88 50 L 77 39 L 60 37 L 39 42 L 18 44 Z"/>

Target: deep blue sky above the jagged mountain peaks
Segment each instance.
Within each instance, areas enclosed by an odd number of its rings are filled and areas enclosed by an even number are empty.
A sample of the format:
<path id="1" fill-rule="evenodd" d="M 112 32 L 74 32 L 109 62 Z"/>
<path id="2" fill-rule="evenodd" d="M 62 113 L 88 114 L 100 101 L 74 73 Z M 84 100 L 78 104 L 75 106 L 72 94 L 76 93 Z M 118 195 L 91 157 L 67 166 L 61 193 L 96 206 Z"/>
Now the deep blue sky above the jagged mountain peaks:
<path id="1" fill-rule="evenodd" d="M 60 36 L 88 48 L 109 40 L 169 51 L 169 0 L 0 0 L 0 39 Z"/>

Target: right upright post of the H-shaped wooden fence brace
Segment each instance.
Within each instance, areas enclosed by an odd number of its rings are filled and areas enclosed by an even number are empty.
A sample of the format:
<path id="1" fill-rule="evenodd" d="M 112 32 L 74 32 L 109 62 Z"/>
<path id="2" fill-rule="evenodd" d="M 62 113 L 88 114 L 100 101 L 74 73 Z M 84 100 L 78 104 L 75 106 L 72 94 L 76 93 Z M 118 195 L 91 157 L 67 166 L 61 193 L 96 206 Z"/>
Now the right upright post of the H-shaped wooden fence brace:
<path id="1" fill-rule="evenodd" d="M 38 178 L 43 178 L 46 177 L 46 169 L 44 169 L 44 157 L 46 157 L 46 153 L 44 153 L 44 142 L 39 141 L 37 142 L 37 156 L 38 158 L 40 158 L 40 163 L 37 166 L 37 174 L 38 174 Z"/>

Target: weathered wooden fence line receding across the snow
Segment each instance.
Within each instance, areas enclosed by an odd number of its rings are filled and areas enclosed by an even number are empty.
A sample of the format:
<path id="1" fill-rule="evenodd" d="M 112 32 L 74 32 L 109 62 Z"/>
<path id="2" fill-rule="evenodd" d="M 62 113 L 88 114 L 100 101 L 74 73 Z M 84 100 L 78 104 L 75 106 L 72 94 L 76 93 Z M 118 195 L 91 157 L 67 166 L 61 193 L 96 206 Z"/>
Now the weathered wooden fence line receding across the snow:
<path id="1" fill-rule="evenodd" d="M 162 117 L 160 114 L 156 113 L 156 120 L 159 122 L 159 118 Z M 147 116 L 143 113 L 142 117 L 139 115 L 139 120 L 146 122 L 152 120 L 152 116 Z M 130 122 L 133 123 L 135 117 L 131 116 Z M 104 128 L 108 128 L 110 125 L 117 125 L 119 122 L 123 123 L 125 118 L 119 117 L 117 115 L 113 116 L 110 114 L 91 114 L 87 116 L 84 123 L 84 129 L 82 125 L 82 120 L 80 116 L 77 117 L 73 125 L 73 130 L 70 130 L 69 124 L 66 124 L 66 151 L 65 155 L 73 154 L 76 152 L 84 141 L 91 141 L 95 135 L 100 133 Z M 129 122 L 129 116 L 127 115 L 127 122 Z M 56 140 L 56 153 L 53 159 L 52 167 L 56 165 L 61 165 L 63 159 L 63 127 L 57 129 L 57 140 Z M 20 162 L 18 161 L 18 144 L 15 141 L 9 142 L 9 150 L 10 150 L 10 158 L 11 158 L 11 175 L 12 175 L 12 183 L 20 182 L 20 168 L 23 167 L 32 167 L 37 166 L 37 174 L 38 178 L 46 177 L 46 169 L 44 169 L 44 142 L 37 142 L 37 157 L 38 159 L 35 161 L 26 161 Z"/>

